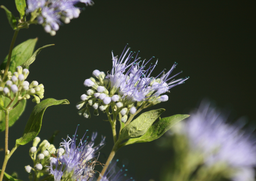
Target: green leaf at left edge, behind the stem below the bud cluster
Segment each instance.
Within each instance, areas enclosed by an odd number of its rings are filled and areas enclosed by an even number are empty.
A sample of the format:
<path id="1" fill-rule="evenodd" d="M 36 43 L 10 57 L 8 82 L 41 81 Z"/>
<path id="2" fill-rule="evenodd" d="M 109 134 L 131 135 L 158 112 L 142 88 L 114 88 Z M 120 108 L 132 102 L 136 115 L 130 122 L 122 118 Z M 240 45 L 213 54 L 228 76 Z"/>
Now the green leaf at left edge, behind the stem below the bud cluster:
<path id="1" fill-rule="evenodd" d="M 5 104 L 5 107 L 9 104 L 10 99 L 7 97 L 2 97 L 2 100 Z M 17 102 L 18 96 L 15 98 L 14 103 L 11 105 L 14 106 L 14 104 Z M 20 103 L 9 112 L 9 127 L 13 126 L 14 123 L 19 119 L 19 117 L 22 115 L 22 113 L 25 110 L 27 100 L 22 100 Z M 0 110 L 0 132 L 5 130 L 5 113 L 4 111 Z"/>

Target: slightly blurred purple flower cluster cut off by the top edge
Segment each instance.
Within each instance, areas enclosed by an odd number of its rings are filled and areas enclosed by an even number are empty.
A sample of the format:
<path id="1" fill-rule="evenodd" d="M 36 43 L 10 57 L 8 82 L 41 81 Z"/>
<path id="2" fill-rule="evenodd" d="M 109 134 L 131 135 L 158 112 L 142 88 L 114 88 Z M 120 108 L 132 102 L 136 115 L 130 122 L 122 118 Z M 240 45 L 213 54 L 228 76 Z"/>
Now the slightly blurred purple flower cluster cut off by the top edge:
<path id="1" fill-rule="evenodd" d="M 38 24 L 42 24 L 47 33 L 52 36 L 59 30 L 61 20 L 69 23 L 71 19 L 78 18 L 80 9 L 77 3 L 92 6 L 92 0 L 27 0 L 27 13 L 36 13 Z"/>

